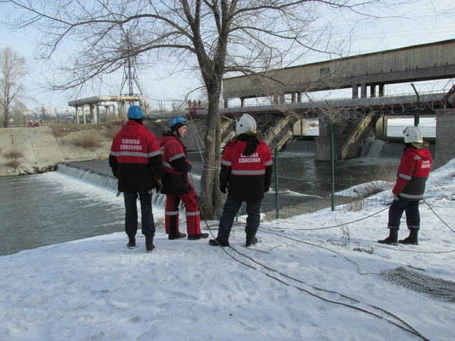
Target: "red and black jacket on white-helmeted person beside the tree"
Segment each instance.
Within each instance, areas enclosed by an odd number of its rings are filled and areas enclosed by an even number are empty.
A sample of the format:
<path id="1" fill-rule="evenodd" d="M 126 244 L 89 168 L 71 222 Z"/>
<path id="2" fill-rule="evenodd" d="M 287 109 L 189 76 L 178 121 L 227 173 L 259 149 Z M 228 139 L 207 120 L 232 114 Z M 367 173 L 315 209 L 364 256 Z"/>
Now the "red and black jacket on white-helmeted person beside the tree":
<path id="1" fill-rule="evenodd" d="M 221 155 L 220 186 L 237 201 L 260 202 L 272 181 L 272 153 L 267 143 L 248 134 L 226 144 Z"/>

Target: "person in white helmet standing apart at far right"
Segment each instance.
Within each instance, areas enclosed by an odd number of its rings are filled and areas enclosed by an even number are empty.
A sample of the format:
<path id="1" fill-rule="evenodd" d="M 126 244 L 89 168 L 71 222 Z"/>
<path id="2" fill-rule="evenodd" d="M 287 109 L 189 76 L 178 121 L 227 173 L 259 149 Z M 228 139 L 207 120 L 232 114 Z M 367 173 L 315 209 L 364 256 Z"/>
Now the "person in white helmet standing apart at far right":
<path id="1" fill-rule="evenodd" d="M 393 202 L 388 210 L 389 236 L 381 244 L 418 245 L 420 229 L 419 200 L 423 198 L 425 182 L 427 182 L 431 163 L 431 153 L 427 149 L 428 142 L 422 140 L 422 132 L 418 127 L 408 127 L 403 130 L 404 152 L 398 166 L 397 182 L 392 189 Z M 409 236 L 397 241 L 400 220 L 406 211 L 406 225 Z"/>

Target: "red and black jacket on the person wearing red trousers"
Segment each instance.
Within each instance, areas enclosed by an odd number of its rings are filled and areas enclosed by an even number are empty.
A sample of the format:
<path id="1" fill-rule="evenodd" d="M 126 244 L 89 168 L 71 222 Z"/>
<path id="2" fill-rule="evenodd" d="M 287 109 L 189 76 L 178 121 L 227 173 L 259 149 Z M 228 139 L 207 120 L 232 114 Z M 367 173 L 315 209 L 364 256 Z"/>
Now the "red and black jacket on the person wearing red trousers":
<path id="1" fill-rule="evenodd" d="M 187 148 L 171 131 L 164 132 L 159 143 L 165 171 L 161 193 L 187 194 L 189 192 L 187 177 L 192 168 L 191 162 L 187 160 Z"/>

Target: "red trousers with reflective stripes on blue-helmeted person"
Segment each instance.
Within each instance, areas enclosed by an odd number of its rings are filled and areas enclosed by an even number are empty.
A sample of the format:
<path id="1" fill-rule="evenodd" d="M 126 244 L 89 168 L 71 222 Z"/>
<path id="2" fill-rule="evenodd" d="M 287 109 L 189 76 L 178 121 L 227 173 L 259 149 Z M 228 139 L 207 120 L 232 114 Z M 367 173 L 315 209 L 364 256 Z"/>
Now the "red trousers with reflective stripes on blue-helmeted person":
<path id="1" fill-rule="evenodd" d="M 188 184 L 189 193 L 180 195 L 166 194 L 166 208 L 165 208 L 165 228 L 166 234 L 176 234 L 179 232 L 179 206 L 180 200 L 184 203 L 185 211 L 187 212 L 187 234 L 189 236 L 200 234 L 200 216 L 199 205 L 196 200 L 196 191 L 193 186 Z"/>

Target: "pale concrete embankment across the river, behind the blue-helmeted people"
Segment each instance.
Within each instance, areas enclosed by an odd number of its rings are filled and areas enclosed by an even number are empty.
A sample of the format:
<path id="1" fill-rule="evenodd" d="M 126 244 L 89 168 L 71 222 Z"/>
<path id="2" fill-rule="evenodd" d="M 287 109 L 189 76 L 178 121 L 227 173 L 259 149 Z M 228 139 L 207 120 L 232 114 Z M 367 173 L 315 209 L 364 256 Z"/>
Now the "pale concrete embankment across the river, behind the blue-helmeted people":
<path id="1" fill-rule="evenodd" d="M 182 141 L 188 151 L 203 148 L 205 121 L 188 122 Z M 62 162 L 108 159 L 112 138 L 123 123 L 42 125 L 33 128 L 0 128 L 0 176 L 55 171 Z M 144 122 L 160 138 L 169 130 L 169 119 Z"/>

